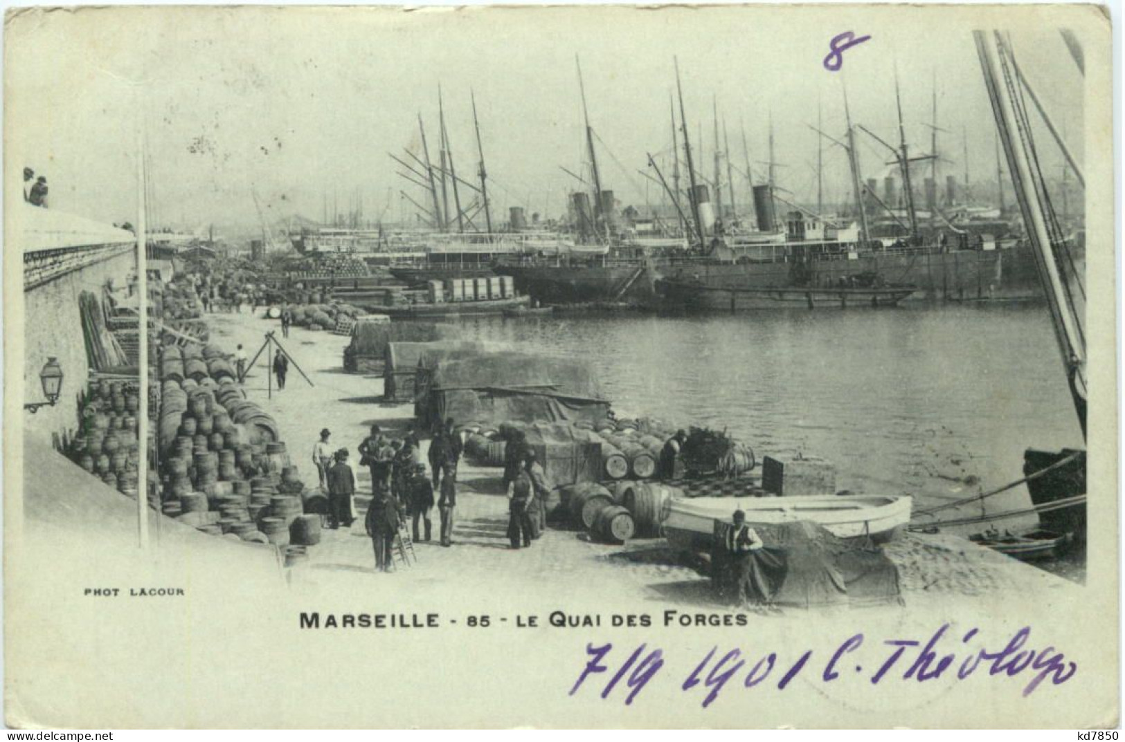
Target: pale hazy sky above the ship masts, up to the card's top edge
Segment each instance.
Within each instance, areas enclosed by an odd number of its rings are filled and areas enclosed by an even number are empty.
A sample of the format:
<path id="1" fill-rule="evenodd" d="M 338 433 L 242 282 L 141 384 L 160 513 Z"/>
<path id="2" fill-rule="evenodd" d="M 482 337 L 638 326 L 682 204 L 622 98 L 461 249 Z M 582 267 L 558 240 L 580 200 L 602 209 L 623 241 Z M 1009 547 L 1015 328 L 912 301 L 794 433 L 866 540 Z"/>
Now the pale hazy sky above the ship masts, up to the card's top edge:
<path id="1" fill-rule="evenodd" d="M 1089 9 L 1060 11 L 1076 13 L 1080 39 L 1097 33 L 1080 17 Z M 929 151 L 936 84 L 937 123 L 945 129 L 939 178 L 963 179 L 964 132 L 971 180 L 992 180 L 994 125 L 971 36 L 982 25 L 1011 29 L 1025 74 L 1079 163 L 1083 159 L 1083 78 L 1058 18 L 1043 12 L 848 6 L 32 10 L 9 18 L 6 29 L 6 172 L 9 186 L 25 164 L 45 174 L 52 208 L 133 220 L 143 130 L 158 226 L 233 229 L 252 228 L 262 217 L 271 224 L 292 215 L 320 219 L 325 201 L 343 211 L 357 193 L 366 218 L 396 220 L 416 211 L 399 191 L 423 203 L 425 194 L 396 174 L 402 168 L 388 153 L 422 155 L 421 114 L 436 159 L 441 85 L 458 174 L 467 180 L 478 161 L 470 92 L 476 98 L 494 215 L 524 206 L 558 216 L 567 190 L 579 186 L 562 169 L 586 172 L 577 57 L 603 187 L 622 203 L 662 200 L 638 171 L 652 174 L 647 153 L 669 164 L 674 60 L 696 169 L 708 177 L 716 106 L 739 169 L 745 129 L 752 166 L 764 170 L 758 163 L 767 159 L 772 119 L 778 186 L 809 202 L 819 139 L 809 127 L 818 107 L 824 132 L 842 138 L 846 88 L 853 120 L 897 144 L 897 75 L 912 152 Z M 846 30 L 871 38 L 843 53 L 840 71 L 828 71 L 829 40 Z M 864 175 L 889 174 L 889 153 L 857 136 Z M 846 160 L 838 146 L 825 144 L 826 198 L 839 199 L 846 196 Z M 1041 151 L 1044 165 L 1059 174 L 1056 150 Z M 745 192 L 740 175 L 735 180 Z"/>

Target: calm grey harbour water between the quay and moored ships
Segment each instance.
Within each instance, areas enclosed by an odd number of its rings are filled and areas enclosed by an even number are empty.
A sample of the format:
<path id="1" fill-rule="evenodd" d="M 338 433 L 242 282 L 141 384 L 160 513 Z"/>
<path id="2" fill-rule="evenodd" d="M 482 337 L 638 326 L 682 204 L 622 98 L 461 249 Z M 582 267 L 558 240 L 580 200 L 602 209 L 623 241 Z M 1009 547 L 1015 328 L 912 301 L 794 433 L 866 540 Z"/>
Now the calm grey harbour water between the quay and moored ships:
<path id="1" fill-rule="evenodd" d="M 838 490 L 912 495 L 916 510 L 1020 479 L 1027 447 L 1083 447 L 1041 304 L 461 323 L 466 340 L 588 359 L 619 416 L 727 428 L 758 461 L 822 456 L 837 468 Z M 932 519 L 1029 505 L 1017 487 Z M 1081 568 L 1050 569 L 1073 578 Z"/>

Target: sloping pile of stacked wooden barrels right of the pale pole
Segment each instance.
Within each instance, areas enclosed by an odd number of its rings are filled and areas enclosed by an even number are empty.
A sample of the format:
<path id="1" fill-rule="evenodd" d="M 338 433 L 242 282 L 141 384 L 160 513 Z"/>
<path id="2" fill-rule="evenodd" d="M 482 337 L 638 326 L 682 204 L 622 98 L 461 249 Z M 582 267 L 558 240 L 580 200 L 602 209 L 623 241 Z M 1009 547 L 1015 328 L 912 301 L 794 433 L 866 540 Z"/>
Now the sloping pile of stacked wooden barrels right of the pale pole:
<path id="1" fill-rule="evenodd" d="M 226 354 L 164 345 L 156 368 L 163 513 L 238 541 L 318 543 L 320 516 L 304 517 L 304 483 L 277 423 L 245 398 Z"/>

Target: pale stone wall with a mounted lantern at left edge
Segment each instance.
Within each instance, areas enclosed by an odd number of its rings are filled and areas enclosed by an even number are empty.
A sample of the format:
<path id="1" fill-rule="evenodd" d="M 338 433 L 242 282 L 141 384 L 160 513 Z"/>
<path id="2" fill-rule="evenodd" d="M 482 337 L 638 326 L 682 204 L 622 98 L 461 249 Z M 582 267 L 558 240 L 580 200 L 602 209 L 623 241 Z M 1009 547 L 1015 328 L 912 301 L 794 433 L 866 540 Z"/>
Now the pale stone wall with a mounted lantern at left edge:
<path id="1" fill-rule="evenodd" d="M 24 293 L 24 401 L 43 399 L 39 371 L 48 356 L 58 359 L 63 386 L 54 407 L 24 410 L 26 436 L 51 440 L 52 433 L 78 427 L 78 396 L 90 372 L 78 297 L 82 291 L 98 293 L 107 279 L 125 286 L 136 265 L 135 251 L 123 248 L 116 255 L 55 278 Z"/>

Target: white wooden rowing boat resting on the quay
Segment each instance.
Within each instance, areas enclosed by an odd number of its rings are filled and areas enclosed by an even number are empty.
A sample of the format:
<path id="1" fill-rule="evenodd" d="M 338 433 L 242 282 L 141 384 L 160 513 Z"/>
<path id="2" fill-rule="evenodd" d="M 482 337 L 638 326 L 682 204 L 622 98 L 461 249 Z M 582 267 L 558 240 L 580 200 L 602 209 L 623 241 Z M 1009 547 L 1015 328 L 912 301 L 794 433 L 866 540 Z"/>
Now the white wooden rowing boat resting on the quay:
<path id="1" fill-rule="evenodd" d="M 691 551 L 710 549 L 716 521 L 729 521 L 735 509 L 750 525 L 811 521 L 839 539 L 891 541 L 910 523 L 909 496 L 695 497 L 670 501 L 664 521 L 668 543 Z"/>

